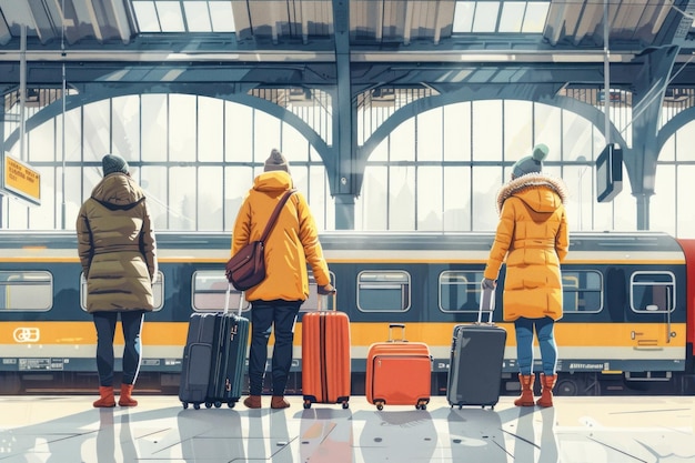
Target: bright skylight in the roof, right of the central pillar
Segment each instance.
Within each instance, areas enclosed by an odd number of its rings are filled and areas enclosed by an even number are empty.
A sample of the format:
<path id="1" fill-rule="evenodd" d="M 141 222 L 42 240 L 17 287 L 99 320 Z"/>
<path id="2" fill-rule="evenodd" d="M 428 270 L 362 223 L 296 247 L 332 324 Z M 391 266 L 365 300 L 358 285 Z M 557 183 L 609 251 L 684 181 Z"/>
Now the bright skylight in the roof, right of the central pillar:
<path id="1" fill-rule="evenodd" d="M 454 33 L 543 33 L 550 1 L 456 1 Z"/>

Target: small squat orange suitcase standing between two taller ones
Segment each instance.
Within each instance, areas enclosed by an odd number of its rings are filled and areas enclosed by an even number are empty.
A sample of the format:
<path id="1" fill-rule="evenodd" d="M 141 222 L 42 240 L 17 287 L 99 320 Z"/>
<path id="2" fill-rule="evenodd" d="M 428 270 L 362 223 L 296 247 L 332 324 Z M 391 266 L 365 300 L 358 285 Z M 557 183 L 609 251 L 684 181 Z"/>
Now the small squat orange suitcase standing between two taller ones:
<path id="1" fill-rule="evenodd" d="M 394 340 L 392 330 L 402 329 Z M 389 405 L 415 405 L 425 410 L 432 391 L 432 356 L 423 342 L 405 341 L 405 325 L 389 325 L 389 341 L 370 345 L 366 355 L 366 400 L 383 410 Z"/>

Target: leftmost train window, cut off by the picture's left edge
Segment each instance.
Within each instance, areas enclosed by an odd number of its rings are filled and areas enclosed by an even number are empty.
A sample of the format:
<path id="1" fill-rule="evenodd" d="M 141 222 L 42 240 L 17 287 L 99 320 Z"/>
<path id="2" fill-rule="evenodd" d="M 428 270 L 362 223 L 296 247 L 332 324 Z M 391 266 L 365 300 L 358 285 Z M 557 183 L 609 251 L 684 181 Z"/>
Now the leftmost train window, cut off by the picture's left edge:
<path id="1" fill-rule="evenodd" d="M 0 311 L 48 311 L 53 276 L 44 271 L 0 271 Z"/>

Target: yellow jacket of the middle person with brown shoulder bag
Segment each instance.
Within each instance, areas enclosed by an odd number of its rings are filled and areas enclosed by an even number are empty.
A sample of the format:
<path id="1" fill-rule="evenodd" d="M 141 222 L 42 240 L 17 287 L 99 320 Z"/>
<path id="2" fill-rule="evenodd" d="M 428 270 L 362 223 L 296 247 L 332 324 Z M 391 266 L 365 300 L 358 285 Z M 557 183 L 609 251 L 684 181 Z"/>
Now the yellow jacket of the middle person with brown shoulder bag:
<path id="1" fill-rule="evenodd" d="M 292 178 L 284 171 L 258 175 L 239 209 L 232 235 L 232 255 L 259 240 L 268 220 Z M 246 291 L 248 301 L 305 301 L 309 298 L 309 264 L 316 283 L 331 282 L 319 232 L 306 199 L 299 191 L 290 197 L 265 241 L 265 280 Z"/>

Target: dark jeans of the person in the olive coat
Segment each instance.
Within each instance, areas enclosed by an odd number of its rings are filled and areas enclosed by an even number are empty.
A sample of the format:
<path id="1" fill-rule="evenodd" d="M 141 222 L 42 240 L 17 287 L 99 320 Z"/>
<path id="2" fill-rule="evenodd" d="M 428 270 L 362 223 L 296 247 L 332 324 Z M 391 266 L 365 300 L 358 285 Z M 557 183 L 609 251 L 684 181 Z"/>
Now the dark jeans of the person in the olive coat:
<path id="1" fill-rule="evenodd" d="M 123 384 L 134 384 L 140 371 L 140 331 L 144 320 L 143 310 L 125 312 L 93 312 L 94 326 L 97 326 L 97 371 L 99 384 L 102 386 L 113 385 L 113 335 L 119 313 L 123 328 Z"/>

